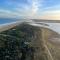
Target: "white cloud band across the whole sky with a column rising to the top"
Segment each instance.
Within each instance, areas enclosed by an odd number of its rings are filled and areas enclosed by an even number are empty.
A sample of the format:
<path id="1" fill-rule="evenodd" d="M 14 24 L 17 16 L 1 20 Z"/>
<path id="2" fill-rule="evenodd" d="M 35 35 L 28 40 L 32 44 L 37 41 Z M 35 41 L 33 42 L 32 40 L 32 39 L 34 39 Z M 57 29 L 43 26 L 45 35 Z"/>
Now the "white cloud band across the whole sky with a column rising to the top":
<path id="1" fill-rule="evenodd" d="M 0 9 L 0 17 L 14 18 L 23 16 L 26 18 L 60 19 L 60 9 L 57 9 L 60 7 L 60 5 L 47 7 L 44 8 L 45 11 L 44 9 L 41 9 L 42 11 L 40 11 L 40 7 L 42 7 L 42 2 L 44 2 L 44 0 L 28 1 L 32 2 L 32 5 L 25 5 L 22 8 L 20 8 L 20 4 L 17 4 L 17 7 L 14 8 L 14 11 Z"/>

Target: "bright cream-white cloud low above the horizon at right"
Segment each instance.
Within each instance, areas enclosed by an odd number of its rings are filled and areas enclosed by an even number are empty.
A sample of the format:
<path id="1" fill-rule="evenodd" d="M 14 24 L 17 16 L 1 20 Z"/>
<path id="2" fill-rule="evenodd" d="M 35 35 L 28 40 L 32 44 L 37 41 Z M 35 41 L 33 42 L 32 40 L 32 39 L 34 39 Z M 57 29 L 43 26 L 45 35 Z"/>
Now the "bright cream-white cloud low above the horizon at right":
<path id="1" fill-rule="evenodd" d="M 47 10 L 44 11 L 39 18 L 42 19 L 51 19 L 51 20 L 60 20 L 60 10 Z"/>

